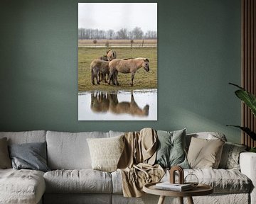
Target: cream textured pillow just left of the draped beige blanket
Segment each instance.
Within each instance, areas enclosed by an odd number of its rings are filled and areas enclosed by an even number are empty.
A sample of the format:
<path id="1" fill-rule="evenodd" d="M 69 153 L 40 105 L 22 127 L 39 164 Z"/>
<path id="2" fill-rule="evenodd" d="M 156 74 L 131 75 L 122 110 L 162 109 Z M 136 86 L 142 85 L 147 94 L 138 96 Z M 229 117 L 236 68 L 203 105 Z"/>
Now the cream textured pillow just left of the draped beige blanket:
<path id="1" fill-rule="evenodd" d="M 112 172 L 124 150 L 124 135 L 110 138 L 88 138 L 92 169 Z"/>

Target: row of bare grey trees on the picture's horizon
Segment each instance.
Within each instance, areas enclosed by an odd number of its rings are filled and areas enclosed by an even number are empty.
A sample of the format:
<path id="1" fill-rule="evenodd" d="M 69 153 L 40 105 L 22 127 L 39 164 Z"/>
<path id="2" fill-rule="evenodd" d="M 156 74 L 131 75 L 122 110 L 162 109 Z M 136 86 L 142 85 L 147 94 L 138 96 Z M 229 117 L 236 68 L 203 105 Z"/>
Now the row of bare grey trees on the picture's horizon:
<path id="1" fill-rule="evenodd" d="M 156 39 L 157 32 L 155 30 L 148 30 L 146 33 L 142 31 L 142 28 L 136 27 L 129 31 L 127 28 L 122 28 L 115 32 L 114 30 L 99 30 L 99 29 L 88 29 L 78 28 L 78 39 Z"/>

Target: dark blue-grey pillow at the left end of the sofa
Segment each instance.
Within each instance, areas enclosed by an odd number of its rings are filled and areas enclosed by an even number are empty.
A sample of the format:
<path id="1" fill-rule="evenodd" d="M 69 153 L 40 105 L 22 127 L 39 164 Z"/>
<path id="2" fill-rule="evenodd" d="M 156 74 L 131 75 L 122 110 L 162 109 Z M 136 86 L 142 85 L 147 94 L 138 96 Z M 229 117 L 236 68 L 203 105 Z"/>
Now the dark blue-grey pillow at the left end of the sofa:
<path id="1" fill-rule="evenodd" d="M 9 152 L 14 169 L 50 171 L 46 164 L 46 142 L 11 145 Z"/>

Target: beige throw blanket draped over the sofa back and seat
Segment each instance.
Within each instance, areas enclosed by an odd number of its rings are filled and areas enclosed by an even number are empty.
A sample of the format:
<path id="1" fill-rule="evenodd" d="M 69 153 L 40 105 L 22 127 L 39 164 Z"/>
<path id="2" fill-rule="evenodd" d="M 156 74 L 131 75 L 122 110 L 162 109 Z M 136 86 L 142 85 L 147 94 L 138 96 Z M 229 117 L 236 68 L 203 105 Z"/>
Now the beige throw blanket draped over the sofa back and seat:
<path id="1" fill-rule="evenodd" d="M 124 134 L 124 152 L 117 165 L 124 197 L 143 196 L 144 184 L 158 182 L 164 176 L 164 169 L 154 165 L 157 140 L 156 130 L 152 128 Z"/>

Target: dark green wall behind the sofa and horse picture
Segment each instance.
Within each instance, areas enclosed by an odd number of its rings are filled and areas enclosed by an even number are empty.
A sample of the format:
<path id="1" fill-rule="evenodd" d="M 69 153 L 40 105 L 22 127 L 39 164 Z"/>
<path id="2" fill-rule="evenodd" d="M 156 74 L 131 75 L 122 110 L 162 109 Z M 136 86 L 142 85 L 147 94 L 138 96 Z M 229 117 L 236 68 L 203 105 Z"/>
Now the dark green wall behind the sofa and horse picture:
<path id="1" fill-rule="evenodd" d="M 158 2 L 158 121 L 93 122 L 78 121 L 78 1 L 1 1 L 0 131 L 185 127 L 240 142 L 225 127 L 240 124 L 240 1 Z"/>

